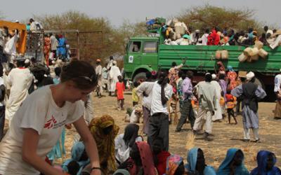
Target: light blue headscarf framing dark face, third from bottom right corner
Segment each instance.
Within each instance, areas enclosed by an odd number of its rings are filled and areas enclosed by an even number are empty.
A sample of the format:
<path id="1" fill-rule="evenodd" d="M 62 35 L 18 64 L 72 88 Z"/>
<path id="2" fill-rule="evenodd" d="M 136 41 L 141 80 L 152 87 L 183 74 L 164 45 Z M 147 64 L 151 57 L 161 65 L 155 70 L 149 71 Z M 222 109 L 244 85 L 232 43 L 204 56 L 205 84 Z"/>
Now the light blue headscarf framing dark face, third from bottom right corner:
<path id="1" fill-rule="evenodd" d="M 188 170 L 188 172 L 195 173 L 196 170 L 196 162 L 197 162 L 197 153 L 198 153 L 198 148 L 192 148 L 188 152 L 188 164 L 185 165 L 185 169 Z M 213 167 L 211 166 L 206 166 L 204 169 L 204 174 L 206 175 L 216 175 L 216 172 Z"/>

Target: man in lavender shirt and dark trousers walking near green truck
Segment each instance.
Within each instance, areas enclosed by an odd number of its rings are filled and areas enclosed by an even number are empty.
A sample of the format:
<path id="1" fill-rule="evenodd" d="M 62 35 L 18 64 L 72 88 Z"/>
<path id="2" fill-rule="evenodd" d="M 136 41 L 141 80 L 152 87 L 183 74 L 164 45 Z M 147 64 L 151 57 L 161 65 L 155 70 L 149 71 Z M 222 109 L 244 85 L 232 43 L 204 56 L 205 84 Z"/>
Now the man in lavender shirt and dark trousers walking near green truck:
<path id="1" fill-rule="evenodd" d="M 194 125 L 195 122 L 195 115 L 194 111 L 192 109 L 192 104 L 191 104 L 191 97 L 192 97 L 192 76 L 193 72 L 188 71 L 187 72 L 187 77 L 183 80 L 183 85 L 182 87 L 182 92 L 183 92 L 183 97 L 182 97 L 182 104 L 181 104 L 181 118 L 178 122 L 178 125 L 176 126 L 176 132 L 181 132 L 181 127 L 183 127 L 183 124 L 186 123 L 186 119 L 188 118 L 190 122 L 191 128 Z"/>

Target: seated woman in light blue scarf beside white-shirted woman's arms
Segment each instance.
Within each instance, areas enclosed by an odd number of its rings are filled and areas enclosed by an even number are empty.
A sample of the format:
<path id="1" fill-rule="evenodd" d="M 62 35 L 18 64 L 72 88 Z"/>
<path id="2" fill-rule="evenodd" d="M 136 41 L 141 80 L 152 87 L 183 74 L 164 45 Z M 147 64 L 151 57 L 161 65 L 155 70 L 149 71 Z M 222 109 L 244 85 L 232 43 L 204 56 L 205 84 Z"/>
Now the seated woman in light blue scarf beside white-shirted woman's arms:
<path id="1" fill-rule="evenodd" d="M 75 164 L 78 163 L 78 167 Z M 66 160 L 62 167 L 65 172 L 68 174 L 74 174 L 77 172 L 77 175 L 81 174 L 82 169 L 90 163 L 88 155 L 86 154 L 85 146 L 83 142 L 77 141 L 71 149 L 71 159 Z M 78 168 L 78 169 L 77 169 Z"/>

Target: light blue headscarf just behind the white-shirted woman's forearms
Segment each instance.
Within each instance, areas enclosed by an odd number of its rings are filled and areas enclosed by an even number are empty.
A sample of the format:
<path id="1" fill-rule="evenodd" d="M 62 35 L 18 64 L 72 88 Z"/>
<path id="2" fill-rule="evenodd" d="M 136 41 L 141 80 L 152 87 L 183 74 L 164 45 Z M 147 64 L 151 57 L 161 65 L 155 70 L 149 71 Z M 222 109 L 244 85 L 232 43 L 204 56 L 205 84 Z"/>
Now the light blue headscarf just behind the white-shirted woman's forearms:
<path id="1" fill-rule="evenodd" d="M 65 170 L 65 172 L 68 172 L 67 165 L 74 160 L 74 161 L 76 161 L 79 164 L 79 167 L 80 167 L 79 172 L 77 173 L 77 175 L 81 174 L 83 168 L 90 163 L 89 159 L 85 160 L 85 161 L 79 161 L 80 158 L 81 158 L 81 155 L 84 152 L 84 149 L 85 149 L 85 146 L 84 146 L 83 142 L 81 142 L 81 141 L 77 141 L 72 146 L 72 149 L 71 149 L 71 159 L 66 160 L 63 163 L 63 165 L 62 165 L 63 170 Z"/>

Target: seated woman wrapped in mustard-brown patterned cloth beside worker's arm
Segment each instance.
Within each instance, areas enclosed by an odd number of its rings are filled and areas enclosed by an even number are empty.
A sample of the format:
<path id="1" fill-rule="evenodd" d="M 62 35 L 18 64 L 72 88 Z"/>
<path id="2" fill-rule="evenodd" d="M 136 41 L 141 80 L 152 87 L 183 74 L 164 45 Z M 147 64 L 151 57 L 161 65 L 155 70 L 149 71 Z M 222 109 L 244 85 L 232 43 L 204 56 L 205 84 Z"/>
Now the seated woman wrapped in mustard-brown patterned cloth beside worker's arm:
<path id="1" fill-rule="evenodd" d="M 119 132 L 119 127 L 115 125 L 115 120 L 104 115 L 100 118 L 93 118 L 89 125 L 89 130 L 96 140 L 98 155 L 100 156 L 100 168 L 103 174 L 115 172 L 115 137 Z"/>

